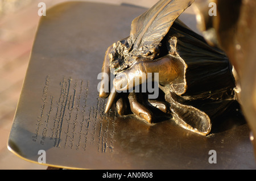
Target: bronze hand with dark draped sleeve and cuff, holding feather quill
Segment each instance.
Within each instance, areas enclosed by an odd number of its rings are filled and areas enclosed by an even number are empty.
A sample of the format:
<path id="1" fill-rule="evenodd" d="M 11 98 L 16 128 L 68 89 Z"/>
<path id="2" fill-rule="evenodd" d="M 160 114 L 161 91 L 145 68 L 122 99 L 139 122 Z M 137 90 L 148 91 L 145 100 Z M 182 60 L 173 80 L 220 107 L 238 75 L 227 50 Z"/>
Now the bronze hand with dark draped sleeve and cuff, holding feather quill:
<path id="1" fill-rule="evenodd" d="M 100 97 L 109 97 L 106 112 L 115 102 L 119 115 L 132 112 L 154 123 L 157 110 L 160 115 L 174 118 L 181 127 L 207 135 L 210 119 L 236 100 L 232 65 L 225 53 L 210 47 L 177 19 L 192 3 L 159 1 L 133 20 L 129 37 L 108 48 L 102 72 L 110 74 L 112 68 L 115 89 L 131 89 L 143 83 L 134 83 L 134 78 L 157 72 L 164 98 L 151 100 L 137 92 L 109 94 L 102 84 Z"/>

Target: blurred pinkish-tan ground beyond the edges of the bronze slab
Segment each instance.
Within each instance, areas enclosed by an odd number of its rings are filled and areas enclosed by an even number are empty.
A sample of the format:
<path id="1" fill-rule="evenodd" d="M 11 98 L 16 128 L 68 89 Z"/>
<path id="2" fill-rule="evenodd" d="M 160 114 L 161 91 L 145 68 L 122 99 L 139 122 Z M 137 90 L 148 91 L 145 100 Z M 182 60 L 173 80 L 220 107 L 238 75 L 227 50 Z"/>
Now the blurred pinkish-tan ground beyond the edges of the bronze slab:
<path id="1" fill-rule="evenodd" d="M 31 48 L 34 42 L 36 28 L 40 16 L 38 15 L 39 2 L 46 3 L 46 8 L 67 2 L 68 0 L 0 0 L 0 169 L 47 169 L 47 166 L 24 161 L 7 149 L 11 125 L 19 100 L 22 83 L 26 74 Z M 70 1 L 70 0 L 69 0 Z M 86 1 L 86 0 L 82 0 Z M 158 0 L 92 0 L 88 2 L 112 3 L 150 8 Z M 189 7 L 186 14 L 193 14 Z M 47 15 L 47 11 L 46 11 Z M 182 19 L 181 19 L 182 20 Z M 197 31 L 192 24 L 192 30 Z"/>

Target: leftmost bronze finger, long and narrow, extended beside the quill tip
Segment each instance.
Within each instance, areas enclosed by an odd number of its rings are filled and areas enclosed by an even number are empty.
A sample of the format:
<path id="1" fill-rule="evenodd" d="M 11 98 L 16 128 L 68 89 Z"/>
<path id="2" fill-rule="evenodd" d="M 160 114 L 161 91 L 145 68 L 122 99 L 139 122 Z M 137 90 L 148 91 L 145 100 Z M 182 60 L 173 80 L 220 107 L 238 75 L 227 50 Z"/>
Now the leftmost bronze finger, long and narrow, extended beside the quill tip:
<path id="1" fill-rule="evenodd" d="M 106 50 L 104 61 L 102 64 L 102 79 L 101 79 L 101 85 L 100 85 L 100 93 L 99 96 L 100 98 L 107 98 L 109 96 L 110 92 L 110 68 L 109 68 L 109 57 L 108 54 L 112 50 L 112 46 Z"/>

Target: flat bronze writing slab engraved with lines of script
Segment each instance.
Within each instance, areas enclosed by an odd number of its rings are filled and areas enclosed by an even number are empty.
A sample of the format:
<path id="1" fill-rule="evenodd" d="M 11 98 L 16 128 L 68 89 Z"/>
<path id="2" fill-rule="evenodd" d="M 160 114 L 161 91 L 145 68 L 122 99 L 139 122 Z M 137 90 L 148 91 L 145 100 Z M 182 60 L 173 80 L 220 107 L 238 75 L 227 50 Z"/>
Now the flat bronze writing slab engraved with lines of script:
<path id="1" fill-rule="evenodd" d="M 68 2 L 40 20 L 8 146 L 38 163 L 70 169 L 256 169 L 239 112 L 208 136 L 166 120 L 148 124 L 105 111 L 97 79 L 106 49 L 129 35 L 145 9 Z M 214 150 L 214 151 L 211 151 Z M 212 162 L 215 153 L 216 163 Z"/>

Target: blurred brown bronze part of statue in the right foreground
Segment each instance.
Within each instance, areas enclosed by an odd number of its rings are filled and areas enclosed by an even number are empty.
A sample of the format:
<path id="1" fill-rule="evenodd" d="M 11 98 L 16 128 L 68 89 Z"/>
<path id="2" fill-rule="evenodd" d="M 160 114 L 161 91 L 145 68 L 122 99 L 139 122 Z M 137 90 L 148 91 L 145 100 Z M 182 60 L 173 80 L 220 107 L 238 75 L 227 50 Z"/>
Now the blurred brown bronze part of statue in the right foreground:
<path id="1" fill-rule="evenodd" d="M 210 2 L 216 3 L 217 16 L 207 14 Z M 199 0 L 195 5 L 199 17 L 197 24 L 205 39 L 224 49 L 234 65 L 237 99 L 256 135 L 256 2 Z M 251 136 L 251 139 L 256 146 L 255 138 Z M 254 150 L 256 153 L 256 147 Z"/>

